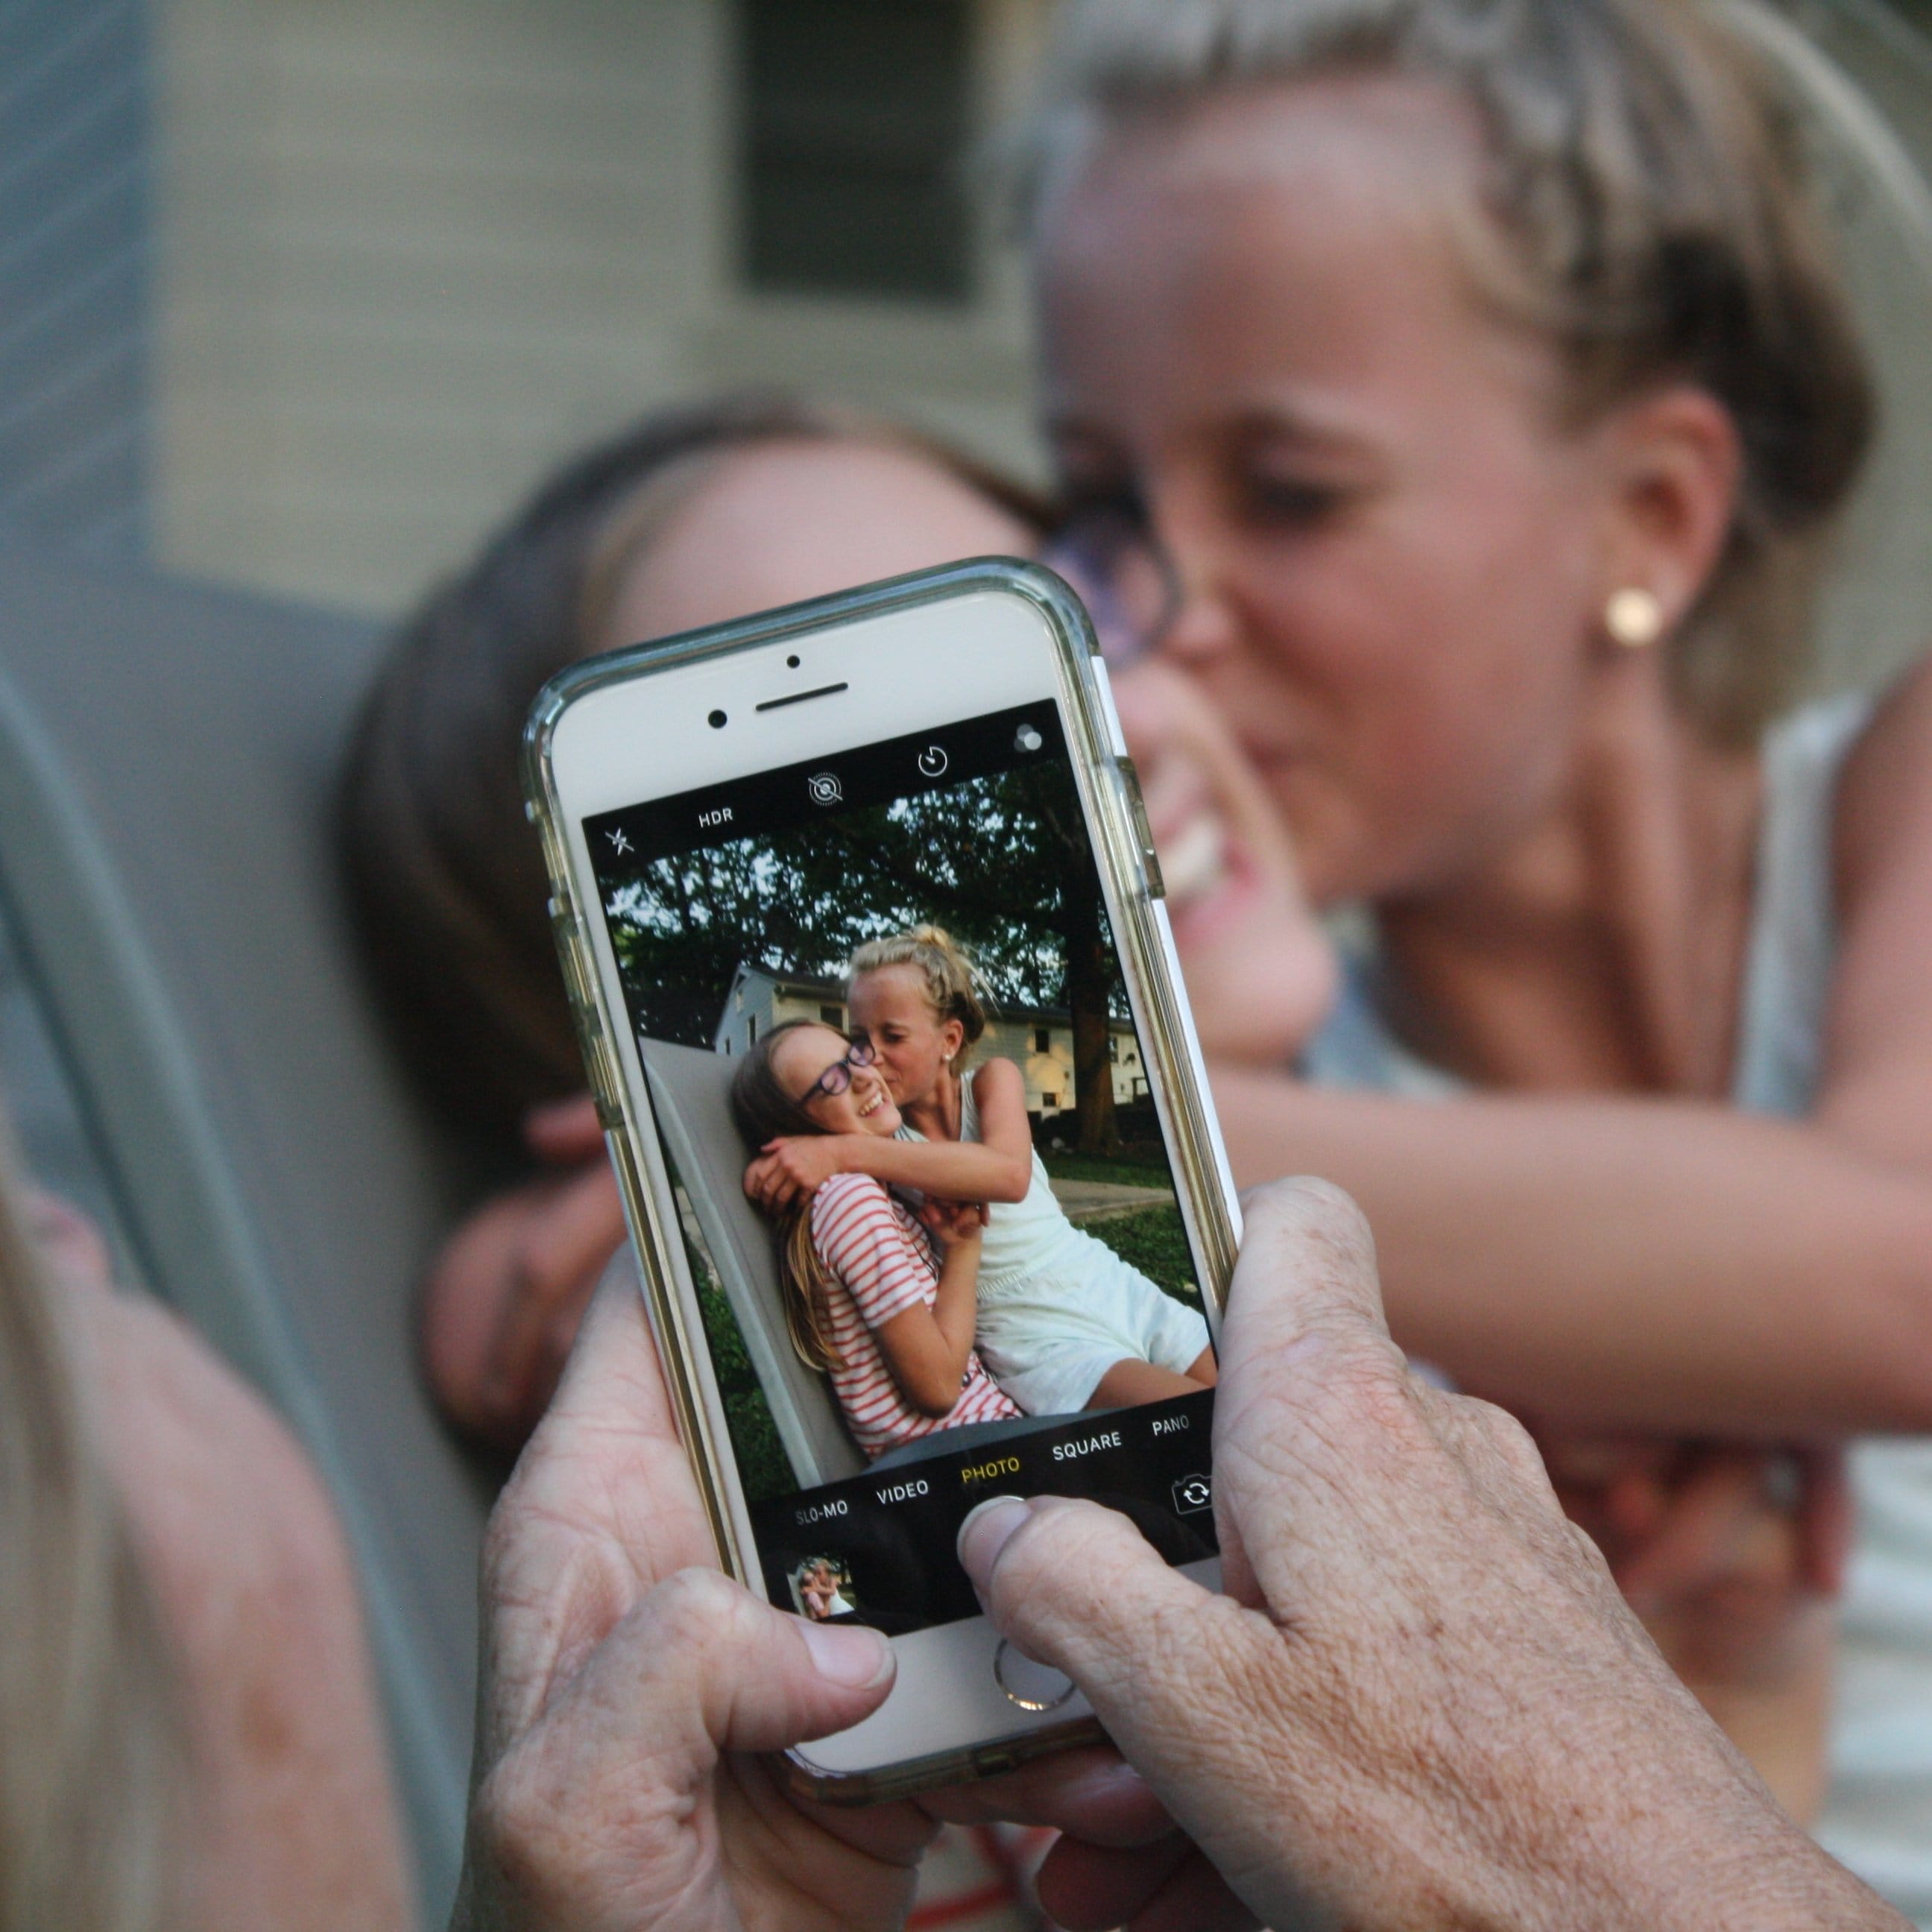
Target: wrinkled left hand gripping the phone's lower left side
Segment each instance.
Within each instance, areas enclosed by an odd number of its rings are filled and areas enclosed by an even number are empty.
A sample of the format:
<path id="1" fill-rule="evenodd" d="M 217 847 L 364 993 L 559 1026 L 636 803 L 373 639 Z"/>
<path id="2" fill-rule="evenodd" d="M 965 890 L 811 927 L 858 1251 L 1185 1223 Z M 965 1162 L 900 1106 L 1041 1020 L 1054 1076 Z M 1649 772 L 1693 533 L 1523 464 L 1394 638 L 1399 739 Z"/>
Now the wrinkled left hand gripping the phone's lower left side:
<path id="1" fill-rule="evenodd" d="M 462 1932 L 887 1932 L 931 1820 L 835 1812 L 752 1752 L 856 1723 L 883 1638 L 713 1565 L 643 1304 L 612 1269 L 491 1519 Z"/>

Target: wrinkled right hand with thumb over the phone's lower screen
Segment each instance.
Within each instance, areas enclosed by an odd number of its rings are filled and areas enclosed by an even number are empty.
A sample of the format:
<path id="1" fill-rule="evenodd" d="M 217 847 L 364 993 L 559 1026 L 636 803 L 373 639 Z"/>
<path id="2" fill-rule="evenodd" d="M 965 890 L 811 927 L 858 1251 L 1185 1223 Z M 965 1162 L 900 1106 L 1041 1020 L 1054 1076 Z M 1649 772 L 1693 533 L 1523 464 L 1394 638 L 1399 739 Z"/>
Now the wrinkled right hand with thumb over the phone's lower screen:
<path id="1" fill-rule="evenodd" d="M 962 1528 L 993 1621 L 1188 1833 L 1063 1841 L 1041 1895 L 1065 1922 L 1903 1924 L 1671 1677 L 1522 1428 L 1406 1372 L 1368 1229 L 1320 1182 L 1250 1202 L 1215 1519 L 1221 1598 L 1094 1503 Z"/>

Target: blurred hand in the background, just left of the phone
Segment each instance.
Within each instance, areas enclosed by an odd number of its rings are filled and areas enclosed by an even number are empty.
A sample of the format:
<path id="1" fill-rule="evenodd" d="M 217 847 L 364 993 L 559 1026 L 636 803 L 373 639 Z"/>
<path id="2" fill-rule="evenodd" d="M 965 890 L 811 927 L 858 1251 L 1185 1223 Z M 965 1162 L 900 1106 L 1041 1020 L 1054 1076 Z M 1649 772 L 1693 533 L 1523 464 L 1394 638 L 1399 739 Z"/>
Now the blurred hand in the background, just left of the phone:
<path id="1" fill-rule="evenodd" d="M 423 1287 L 423 1362 L 466 1434 L 518 1449 L 543 1414 L 583 1308 L 624 1242 L 624 1204 L 591 1097 L 533 1107 L 531 1151 L 556 1173 L 485 1202 Z"/>

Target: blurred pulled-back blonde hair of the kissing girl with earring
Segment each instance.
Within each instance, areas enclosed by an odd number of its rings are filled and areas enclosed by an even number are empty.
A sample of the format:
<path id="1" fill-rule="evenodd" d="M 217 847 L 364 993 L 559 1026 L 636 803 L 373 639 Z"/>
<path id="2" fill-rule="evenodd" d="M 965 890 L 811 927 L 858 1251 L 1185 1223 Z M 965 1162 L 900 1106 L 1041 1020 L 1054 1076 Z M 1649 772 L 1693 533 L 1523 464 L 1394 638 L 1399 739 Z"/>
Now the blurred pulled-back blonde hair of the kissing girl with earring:
<path id="1" fill-rule="evenodd" d="M 1677 696 L 1754 742 L 1808 668 L 1826 539 L 1872 439 L 1864 348 L 1814 184 L 1816 89 L 1758 0 L 1078 0 L 1024 143 L 1036 232 L 1095 143 L 1238 89 L 1399 73 L 1466 100 L 1449 207 L 1482 296 L 1559 350 L 1567 415 L 1663 383 L 1743 446 Z"/>

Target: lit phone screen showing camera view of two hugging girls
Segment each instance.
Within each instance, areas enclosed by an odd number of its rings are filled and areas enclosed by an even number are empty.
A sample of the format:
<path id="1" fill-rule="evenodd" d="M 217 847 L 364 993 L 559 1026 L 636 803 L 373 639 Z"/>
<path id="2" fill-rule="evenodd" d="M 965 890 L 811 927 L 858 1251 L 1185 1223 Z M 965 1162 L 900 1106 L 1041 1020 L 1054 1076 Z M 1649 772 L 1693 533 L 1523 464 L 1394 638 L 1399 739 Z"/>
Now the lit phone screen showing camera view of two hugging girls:
<path id="1" fill-rule="evenodd" d="M 771 1602 L 889 1634 L 976 1617 L 954 1534 L 999 1493 L 1088 1495 L 1211 1557 L 1198 1265 L 1053 701 L 583 833 Z M 951 1066 L 920 968 L 852 974 L 920 927 L 985 1012 Z M 773 1126 L 835 1171 L 767 1213 L 746 1173 Z M 951 1171 L 980 1136 L 1030 1180 L 972 1238 Z M 923 1140 L 927 1184 L 864 1171 L 867 1138 Z"/>

